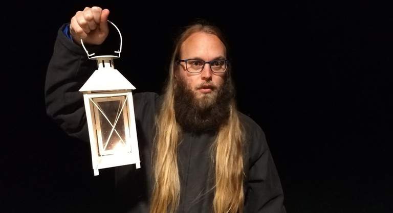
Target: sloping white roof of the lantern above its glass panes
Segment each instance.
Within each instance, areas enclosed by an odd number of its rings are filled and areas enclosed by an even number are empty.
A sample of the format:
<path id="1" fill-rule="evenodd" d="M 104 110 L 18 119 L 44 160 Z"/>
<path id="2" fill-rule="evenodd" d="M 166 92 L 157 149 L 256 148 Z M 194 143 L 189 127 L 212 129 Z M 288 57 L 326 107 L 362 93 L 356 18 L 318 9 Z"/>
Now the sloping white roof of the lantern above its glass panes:
<path id="1" fill-rule="evenodd" d="M 80 92 L 136 89 L 117 69 L 99 68 L 79 89 Z"/>

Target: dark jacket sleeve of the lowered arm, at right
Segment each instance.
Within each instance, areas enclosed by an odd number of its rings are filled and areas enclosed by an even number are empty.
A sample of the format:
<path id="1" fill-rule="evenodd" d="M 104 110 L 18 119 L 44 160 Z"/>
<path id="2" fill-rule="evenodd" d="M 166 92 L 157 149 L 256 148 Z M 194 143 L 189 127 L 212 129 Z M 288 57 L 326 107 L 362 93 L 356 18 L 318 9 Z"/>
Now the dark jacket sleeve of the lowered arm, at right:
<path id="1" fill-rule="evenodd" d="M 245 212 L 286 213 L 280 178 L 265 133 L 257 124 L 252 128 L 249 153 Z"/>

